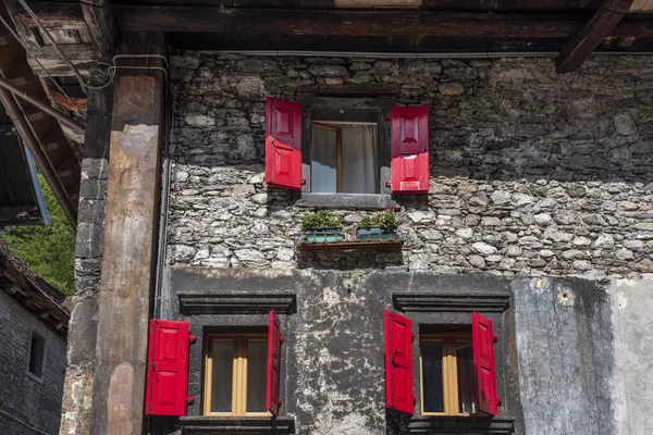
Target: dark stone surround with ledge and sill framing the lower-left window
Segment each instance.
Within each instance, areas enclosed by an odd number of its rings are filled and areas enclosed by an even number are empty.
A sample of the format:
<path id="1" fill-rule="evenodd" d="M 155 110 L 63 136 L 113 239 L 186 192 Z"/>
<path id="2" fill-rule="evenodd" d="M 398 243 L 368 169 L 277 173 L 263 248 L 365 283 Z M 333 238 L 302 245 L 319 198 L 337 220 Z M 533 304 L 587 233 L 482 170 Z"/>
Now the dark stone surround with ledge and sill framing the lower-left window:
<path id="1" fill-rule="evenodd" d="M 214 332 L 233 332 L 234 328 L 268 327 L 269 312 L 274 310 L 282 326 L 287 327 L 287 315 L 296 311 L 293 294 L 257 291 L 180 291 L 180 311 L 187 315 L 190 334 L 197 336 L 199 346 L 190 347 L 189 373 L 199 373 L 199 380 L 189 382 L 188 396 L 195 398 L 187 417 L 182 417 L 182 434 L 206 434 L 227 431 L 230 434 L 293 434 L 295 419 L 278 417 L 214 417 L 202 415 L 204 361 L 207 336 Z M 285 376 L 287 346 L 281 346 L 280 396 L 286 401 Z M 282 402 L 283 411 L 283 402 Z"/>

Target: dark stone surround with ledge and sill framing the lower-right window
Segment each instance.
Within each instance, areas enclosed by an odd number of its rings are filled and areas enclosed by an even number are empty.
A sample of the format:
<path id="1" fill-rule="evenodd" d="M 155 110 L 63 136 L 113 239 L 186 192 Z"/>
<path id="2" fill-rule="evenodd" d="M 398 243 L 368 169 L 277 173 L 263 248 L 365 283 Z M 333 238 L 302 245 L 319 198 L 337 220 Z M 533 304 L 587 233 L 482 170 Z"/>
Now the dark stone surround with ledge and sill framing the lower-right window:
<path id="1" fill-rule="evenodd" d="M 438 291 L 438 293 L 435 293 Z M 393 293 L 393 306 L 403 315 L 414 322 L 414 331 L 419 325 L 471 325 L 471 313 L 477 311 L 493 322 L 493 332 L 501 340 L 508 339 L 506 333 L 507 320 L 504 312 L 509 308 L 510 290 L 505 291 L 439 291 L 429 294 L 418 293 Z M 419 334 L 419 332 L 418 332 Z M 416 341 L 419 337 L 416 337 Z M 505 357 L 502 348 L 495 346 L 496 385 L 498 396 L 505 391 L 505 370 L 503 361 Z M 419 361 L 419 346 L 412 346 L 412 360 Z M 421 415 L 421 386 L 419 370 L 414 370 L 414 390 L 416 391 L 416 413 L 410 419 L 408 427 L 415 434 L 447 434 L 459 433 L 461 427 L 479 434 L 505 434 L 514 433 L 516 419 L 505 415 L 500 406 L 500 415 L 496 417 L 434 417 Z"/>

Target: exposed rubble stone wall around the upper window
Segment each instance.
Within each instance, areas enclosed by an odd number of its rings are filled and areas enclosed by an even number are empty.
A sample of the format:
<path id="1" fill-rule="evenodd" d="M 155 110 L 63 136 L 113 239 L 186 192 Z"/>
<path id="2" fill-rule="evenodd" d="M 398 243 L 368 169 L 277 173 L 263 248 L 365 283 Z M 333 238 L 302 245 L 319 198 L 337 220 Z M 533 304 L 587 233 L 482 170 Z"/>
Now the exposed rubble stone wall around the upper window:
<path id="1" fill-rule="evenodd" d="M 594 58 L 572 75 L 550 59 L 171 61 L 169 264 L 592 279 L 653 271 L 651 58 Z M 263 185 L 264 97 L 343 84 L 390 84 L 396 105 L 430 108 L 430 191 L 396 199 L 406 239 L 396 256 L 297 258 L 309 209 Z M 365 214 L 336 213 L 349 233 Z"/>

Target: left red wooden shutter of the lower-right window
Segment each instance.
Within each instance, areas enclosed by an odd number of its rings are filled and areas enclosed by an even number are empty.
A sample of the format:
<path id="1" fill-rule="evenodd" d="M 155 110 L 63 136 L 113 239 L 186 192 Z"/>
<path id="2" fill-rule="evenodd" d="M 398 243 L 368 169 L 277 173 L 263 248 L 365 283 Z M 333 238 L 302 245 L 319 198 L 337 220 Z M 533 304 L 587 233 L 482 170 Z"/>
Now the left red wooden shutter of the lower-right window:
<path id="1" fill-rule="evenodd" d="M 414 407 L 410 319 L 385 311 L 385 408 L 412 415 Z"/>

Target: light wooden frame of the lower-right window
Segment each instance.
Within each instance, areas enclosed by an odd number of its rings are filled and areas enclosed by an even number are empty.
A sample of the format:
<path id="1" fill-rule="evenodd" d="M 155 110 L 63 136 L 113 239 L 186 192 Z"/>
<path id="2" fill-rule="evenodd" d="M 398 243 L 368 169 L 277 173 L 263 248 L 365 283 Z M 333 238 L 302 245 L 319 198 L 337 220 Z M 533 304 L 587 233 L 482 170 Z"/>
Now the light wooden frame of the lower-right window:
<path id="1" fill-rule="evenodd" d="M 422 343 L 442 343 L 442 388 L 444 412 L 424 412 L 424 382 L 422 371 Z M 420 334 L 419 341 L 419 388 L 420 388 L 420 411 L 422 415 L 439 417 L 469 417 L 476 415 L 468 412 L 459 412 L 460 403 L 458 400 L 458 360 L 456 357 L 456 343 L 469 341 L 471 344 L 471 333 L 428 333 Z M 476 382 L 476 380 L 473 380 Z"/>

